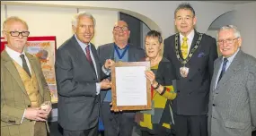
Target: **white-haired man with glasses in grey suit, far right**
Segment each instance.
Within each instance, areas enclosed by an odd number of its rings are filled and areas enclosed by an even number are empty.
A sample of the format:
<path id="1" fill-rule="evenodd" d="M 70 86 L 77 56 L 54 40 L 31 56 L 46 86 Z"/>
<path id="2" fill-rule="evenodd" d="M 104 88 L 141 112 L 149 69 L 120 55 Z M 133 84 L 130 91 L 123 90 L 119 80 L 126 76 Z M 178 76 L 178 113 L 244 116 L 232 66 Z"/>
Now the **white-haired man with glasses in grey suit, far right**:
<path id="1" fill-rule="evenodd" d="M 217 33 L 222 54 L 215 61 L 208 113 L 209 136 L 252 136 L 256 127 L 256 59 L 240 49 L 233 25 Z"/>

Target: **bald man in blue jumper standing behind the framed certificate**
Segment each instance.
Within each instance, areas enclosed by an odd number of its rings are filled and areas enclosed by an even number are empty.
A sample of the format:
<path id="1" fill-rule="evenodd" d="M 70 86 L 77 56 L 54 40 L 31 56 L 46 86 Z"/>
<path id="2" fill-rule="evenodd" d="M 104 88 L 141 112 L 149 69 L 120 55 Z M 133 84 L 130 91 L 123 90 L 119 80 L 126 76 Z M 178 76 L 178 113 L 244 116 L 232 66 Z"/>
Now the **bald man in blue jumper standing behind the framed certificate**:
<path id="1" fill-rule="evenodd" d="M 106 60 L 116 62 L 137 62 L 145 57 L 145 51 L 128 44 L 130 31 L 125 21 L 118 21 L 113 28 L 114 43 L 98 47 L 98 55 L 104 63 Z M 110 77 L 109 77 L 110 78 Z M 111 90 L 101 91 L 101 115 L 104 125 L 104 136 L 131 136 L 134 126 L 135 112 L 110 111 Z"/>

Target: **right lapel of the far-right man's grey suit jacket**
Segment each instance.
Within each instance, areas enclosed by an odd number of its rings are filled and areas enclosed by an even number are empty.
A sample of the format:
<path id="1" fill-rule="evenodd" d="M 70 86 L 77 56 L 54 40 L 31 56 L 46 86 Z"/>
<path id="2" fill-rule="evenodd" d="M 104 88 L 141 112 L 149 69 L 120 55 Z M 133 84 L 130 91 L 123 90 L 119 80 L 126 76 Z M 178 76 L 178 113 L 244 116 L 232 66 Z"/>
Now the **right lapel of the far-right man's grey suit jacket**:
<path id="1" fill-rule="evenodd" d="M 242 68 L 243 61 L 241 59 L 242 51 L 240 50 L 235 56 L 233 62 L 229 65 L 228 69 L 226 70 L 225 74 L 221 78 L 221 80 L 216 85 L 216 89 L 220 86 L 224 85 L 231 79 L 232 76 L 235 75 Z"/>

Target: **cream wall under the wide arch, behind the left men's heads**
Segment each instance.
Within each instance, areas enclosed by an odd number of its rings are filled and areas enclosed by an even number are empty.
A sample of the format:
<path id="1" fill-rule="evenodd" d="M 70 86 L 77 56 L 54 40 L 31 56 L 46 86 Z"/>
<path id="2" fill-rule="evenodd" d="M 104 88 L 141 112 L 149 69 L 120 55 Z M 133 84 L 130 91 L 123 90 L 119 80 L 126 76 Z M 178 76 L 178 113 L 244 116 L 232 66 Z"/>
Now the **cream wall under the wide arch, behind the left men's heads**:
<path id="1" fill-rule="evenodd" d="M 4 6 L 4 4 L 1 4 Z M 2 11 L 3 10 L 3 11 Z M 102 11 L 93 9 L 79 9 L 92 13 L 97 21 L 93 44 L 98 47 L 102 44 L 112 42 L 112 27 L 118 21 L 117 11 Z M 72 17 L 77 13 L 76 8 L 71 7 L 47 7 L 32 5 L 7 4 L 7 17 L 19 16 L 27 21 L 32 36 L 56 36 L 57 47 L 73 35 Z M 3 15 L 2 15 L 3 14 Z M 1 30 L 5 19 L 5 11 L 1 7 Z M 101 32 L 99 32 L 101 31 Z"/>

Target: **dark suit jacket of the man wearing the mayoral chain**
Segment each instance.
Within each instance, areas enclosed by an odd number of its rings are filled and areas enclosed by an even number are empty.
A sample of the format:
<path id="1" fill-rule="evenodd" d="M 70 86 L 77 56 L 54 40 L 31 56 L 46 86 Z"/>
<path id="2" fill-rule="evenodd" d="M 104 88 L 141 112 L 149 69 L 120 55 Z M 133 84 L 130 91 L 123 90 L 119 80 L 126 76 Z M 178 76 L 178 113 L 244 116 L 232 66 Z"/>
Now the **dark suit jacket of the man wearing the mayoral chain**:
<path id="1" fill-rule="evenodd" d="M 195 30 L 191 48 L 199 38 Z M 179 51 L 180 49 L 180 39 Z M 207 35 L 199 44 L 199 48 L 190 58 L 187 67 L 190 68 L 187 78 L 182 78 L 180 67 L 183 66 L 175 53 L 175 35 L 164 39 L 163 55 L 169 59 L 175 67 L 177 79 L 177 98 L 173 100 L 173 112 L 177 115 L 207 115 L 208 94 L 211 77 L 213 75 L 214 61 L 217 57 L 216 39 Z"/>

